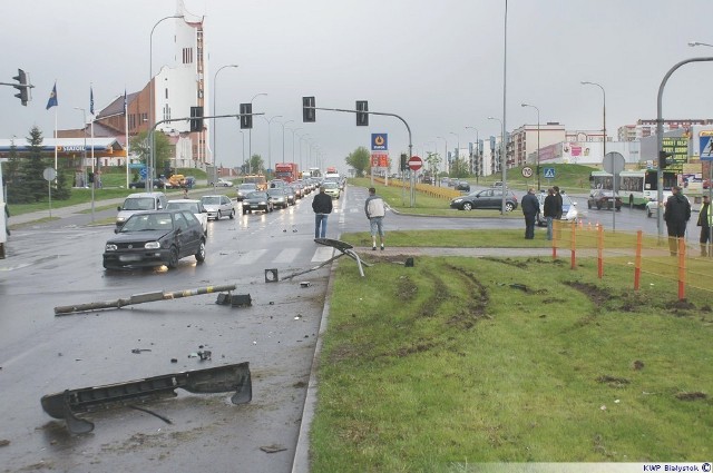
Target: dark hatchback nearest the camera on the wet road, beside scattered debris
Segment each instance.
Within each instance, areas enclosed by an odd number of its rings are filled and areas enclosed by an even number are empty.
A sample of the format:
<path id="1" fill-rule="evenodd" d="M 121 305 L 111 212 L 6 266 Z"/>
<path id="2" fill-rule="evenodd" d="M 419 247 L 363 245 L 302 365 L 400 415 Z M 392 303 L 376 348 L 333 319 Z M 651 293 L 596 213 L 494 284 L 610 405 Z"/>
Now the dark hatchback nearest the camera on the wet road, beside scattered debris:
<path id="1" fill-rule="evenodd" d="M 187 210 L 141 211 L 114 230 L 104 248 L 104 267 L 176 267 L 178 259 L 205 259 L 205 235 L 201 223 Z"/>

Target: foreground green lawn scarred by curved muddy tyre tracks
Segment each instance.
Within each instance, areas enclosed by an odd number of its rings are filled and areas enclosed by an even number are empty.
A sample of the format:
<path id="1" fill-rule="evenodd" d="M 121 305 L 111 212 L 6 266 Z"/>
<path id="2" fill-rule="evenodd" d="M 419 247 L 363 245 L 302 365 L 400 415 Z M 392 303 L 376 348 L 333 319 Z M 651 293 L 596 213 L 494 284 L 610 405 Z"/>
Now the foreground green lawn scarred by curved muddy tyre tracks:
<path id="1" fill-rule="evenodd" d="M 313 472 L 713 456 L 710 290 L 551 258 L 336 269 Z"/>

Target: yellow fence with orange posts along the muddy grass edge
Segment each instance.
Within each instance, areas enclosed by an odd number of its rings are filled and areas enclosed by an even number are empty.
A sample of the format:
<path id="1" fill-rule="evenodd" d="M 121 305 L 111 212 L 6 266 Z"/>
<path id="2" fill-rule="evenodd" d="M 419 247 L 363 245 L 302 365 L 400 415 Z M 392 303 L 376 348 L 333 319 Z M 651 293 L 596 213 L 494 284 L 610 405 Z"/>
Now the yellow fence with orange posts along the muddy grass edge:
<path id="1" fill-rule="evenodd" d="M 694 246 L 695 245 L 695 246 Z M 699 246 L 684 238 L 654 237 L 642 230 L 604 231 L 600 225 L 582 220 L 554 221 L 553 258 L 558 250 L 569 250 L 570 268 L 577 257 L 596 257 L 597 275 L 604 277 L 607 265 L 632 267 L 632 287 L 638 290 L 642 277 L 662 276 L 677 284 L 678 299 L 685 298 L 686 286 L 713 292 L 713 247 Z"/>

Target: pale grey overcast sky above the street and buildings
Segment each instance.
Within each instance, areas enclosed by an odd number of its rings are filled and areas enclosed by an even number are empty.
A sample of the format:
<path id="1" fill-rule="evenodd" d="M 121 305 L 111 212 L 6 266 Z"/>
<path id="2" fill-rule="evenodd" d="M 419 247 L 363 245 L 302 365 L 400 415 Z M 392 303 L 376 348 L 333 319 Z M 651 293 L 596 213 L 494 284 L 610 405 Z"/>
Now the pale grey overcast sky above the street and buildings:
<path id="1" fill-rule="evenodd" d="M 354 107 L 397 114 L 412 131 L 414 154 L 445 141 L 453 149 L 479 137 L 499 135 L 502 118 L 505 0 L 185 0 L 205 16 L 208 80 L 217 77 L 218 114 L 237 112 L 260 92 L 255 112 L 281 115 L 272 125 L 272 162 L 282 160 L 282 126 L 294 120 L 306 162 L 307 140 L 321 148 L 324 165 L 345 170 L 344 157 L 369 147 L 372 132 L 388 132 L 392 157 L 408 149 L 403 124 L 371 117 L 356 127 L 351 114 L 319 111 L 302 124 L 301 98 L 318 107 Z M 89 108 L 140 90 L 149 79 L 149 35 L 176 11 L 175 0 L 3 1 L 0 16 L 0 81 L 12 82 L 20 67 L 30 72 L 33 100 L 22 107 L 11 87 L 0 91 L 0 138 L 27 137 L 38 125 L 45 137 L 55 127 L 46 110 L 57 81 L 59 128 L 81 127 Z M 637 119 L 656 117 L 656 96 L 666 71 L 692 57 L 713 57 L 713 1 L 690 0 L 509 0 L 507 14 L 508 130 L 540 121 L 567 129 L 600 129 L 606 90 L 607 134 Z M 172 61 L 173 24 L 153 37 L 153 70 Z M 668 80 L 664 118 L 713 118 L 713 63 L 686 65 Z M 212 98 L 211 98 L 212 104 Z M 457 134 L 458 137 L 453 134 Z M 217 126 L 218 164 L 243 161 L 237 121 Z M 285 135 L 286 159 L 292 132 Z M 267 161 L 267 125 L 257 118 L 253 152 Z M 299 140 L 297 140 L 299 141 Z M 247 134 L 245 134 L 247 152 Z M 295 149 L 299 160 L 300 146 Z"/>

